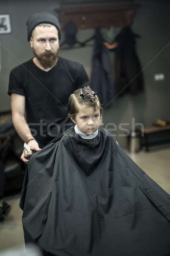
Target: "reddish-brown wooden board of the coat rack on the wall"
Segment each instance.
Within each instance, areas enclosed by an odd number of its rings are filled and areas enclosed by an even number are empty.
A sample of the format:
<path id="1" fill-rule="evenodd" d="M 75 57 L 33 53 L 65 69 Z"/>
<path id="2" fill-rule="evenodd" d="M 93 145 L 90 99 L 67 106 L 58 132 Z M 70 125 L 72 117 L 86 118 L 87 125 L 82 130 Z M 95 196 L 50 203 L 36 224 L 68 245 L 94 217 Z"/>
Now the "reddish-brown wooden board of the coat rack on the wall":
<path id="1" fill-rule="evenodd" d="M 78 29 L 93 29 L 96 26 L 130 26 L 138 4 L 83 6 L 58 9 L 61 29 L 72 20 Z"/>

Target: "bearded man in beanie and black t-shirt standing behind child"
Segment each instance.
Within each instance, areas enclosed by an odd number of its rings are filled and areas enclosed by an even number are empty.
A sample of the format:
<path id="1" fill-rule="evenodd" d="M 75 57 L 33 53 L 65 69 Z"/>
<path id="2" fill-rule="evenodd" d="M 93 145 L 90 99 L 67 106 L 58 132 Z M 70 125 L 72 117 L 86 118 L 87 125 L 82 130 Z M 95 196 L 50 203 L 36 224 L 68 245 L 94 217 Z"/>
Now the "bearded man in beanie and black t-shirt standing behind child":
<path id="1" fill-rule="evenodd" d="M 26 24 L 35 57 L 11 71 L 8 93 L 17 133 L 32 151 L 39 151 L 72 125 L 69 95 L 89 79 L 81 64 L 58 56 L 61 28 L 54 15 L 35 13 Z M 28 163 L 32 151 L 24 149 L 21 160 Z"/>

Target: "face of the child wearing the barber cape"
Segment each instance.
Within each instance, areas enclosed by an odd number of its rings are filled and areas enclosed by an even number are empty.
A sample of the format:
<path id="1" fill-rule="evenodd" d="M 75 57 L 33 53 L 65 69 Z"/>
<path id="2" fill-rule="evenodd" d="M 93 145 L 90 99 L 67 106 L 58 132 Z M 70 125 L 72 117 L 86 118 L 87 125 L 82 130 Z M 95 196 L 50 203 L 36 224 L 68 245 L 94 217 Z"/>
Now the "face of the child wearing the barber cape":
<path id="1" fill-rule="evenodd" d="M 72 119 L 72 121 L 77 124 L 81 132 L 92 135 L 99 127 L 100 118 L 100 110 L 95 111 L 94 108 L 80 105 L 75 115 L 76 120 Z"/>

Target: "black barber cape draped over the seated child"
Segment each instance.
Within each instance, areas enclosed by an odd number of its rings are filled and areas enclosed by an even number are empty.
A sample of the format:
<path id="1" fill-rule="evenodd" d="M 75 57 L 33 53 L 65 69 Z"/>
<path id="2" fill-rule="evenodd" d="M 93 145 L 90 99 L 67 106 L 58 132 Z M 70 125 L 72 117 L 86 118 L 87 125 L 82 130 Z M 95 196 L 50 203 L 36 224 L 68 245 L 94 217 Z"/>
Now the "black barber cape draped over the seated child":
<path id="1" fill-rule="evenodd" d="M 23 188 L 25 241 L 47 253 L 170 255 L 170 195 L 104 128 L 91 140 L 69 128 L 33 154 Z"/>

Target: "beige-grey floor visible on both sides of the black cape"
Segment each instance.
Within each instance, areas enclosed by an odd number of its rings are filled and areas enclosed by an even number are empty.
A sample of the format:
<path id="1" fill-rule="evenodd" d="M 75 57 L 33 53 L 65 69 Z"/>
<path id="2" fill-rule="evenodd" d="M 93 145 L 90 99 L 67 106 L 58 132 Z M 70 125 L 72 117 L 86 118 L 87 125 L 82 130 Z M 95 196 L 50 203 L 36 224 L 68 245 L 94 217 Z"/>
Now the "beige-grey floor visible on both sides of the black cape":
<path id="1" fill-rule="evenodd" d="M 138 154 L 127 152 L 141 169 L 170 194 L 170 148 Z M 19 195 L 6 198 L 12 211 L 5 221 L 0 222 L 0 251 L 24 243 L 21 223 L 22 211 L 19 208 Z"/>

